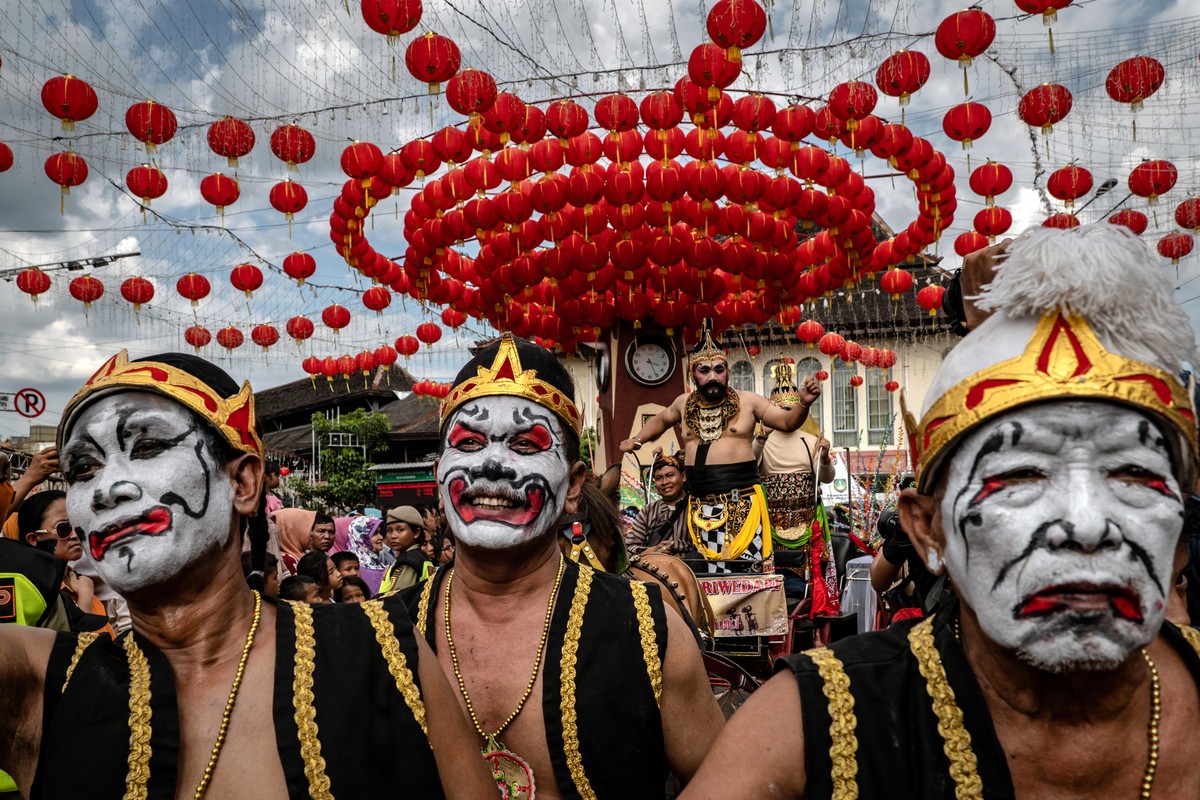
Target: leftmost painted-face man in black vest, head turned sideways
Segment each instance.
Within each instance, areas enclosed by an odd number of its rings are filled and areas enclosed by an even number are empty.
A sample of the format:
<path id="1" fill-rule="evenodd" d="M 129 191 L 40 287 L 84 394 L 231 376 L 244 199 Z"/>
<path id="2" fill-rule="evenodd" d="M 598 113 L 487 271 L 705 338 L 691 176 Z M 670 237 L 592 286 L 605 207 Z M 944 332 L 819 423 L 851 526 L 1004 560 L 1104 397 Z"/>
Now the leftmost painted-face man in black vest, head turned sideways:
<path id="1" fill-rule="evenodd" d="M 194 356 L 122 351 L 67 404 L 59 444 L 71 523 L 133 628 L 0 625 L 0 769 L 25 796 L 370 796 L 400 782 L 494 796 L 402 606 L 276 604 L 242 577 L 242 535 L 259 573 L 266 546 L 248 384 Z"/>

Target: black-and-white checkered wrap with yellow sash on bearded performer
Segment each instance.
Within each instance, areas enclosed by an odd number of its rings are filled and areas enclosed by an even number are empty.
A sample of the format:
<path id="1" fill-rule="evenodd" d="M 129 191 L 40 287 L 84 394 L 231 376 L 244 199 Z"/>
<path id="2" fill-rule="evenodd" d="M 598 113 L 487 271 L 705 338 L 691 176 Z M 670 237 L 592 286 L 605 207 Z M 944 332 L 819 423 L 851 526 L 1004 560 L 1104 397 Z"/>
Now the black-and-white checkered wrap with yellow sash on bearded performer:
<path id="1" fill-rule="evenodd" d="M 707 561 L 703 571 L 740 572 L 769 558 L 770 517 L 755 462 L 689 467 L 686 474 L 688 533 Z"/>

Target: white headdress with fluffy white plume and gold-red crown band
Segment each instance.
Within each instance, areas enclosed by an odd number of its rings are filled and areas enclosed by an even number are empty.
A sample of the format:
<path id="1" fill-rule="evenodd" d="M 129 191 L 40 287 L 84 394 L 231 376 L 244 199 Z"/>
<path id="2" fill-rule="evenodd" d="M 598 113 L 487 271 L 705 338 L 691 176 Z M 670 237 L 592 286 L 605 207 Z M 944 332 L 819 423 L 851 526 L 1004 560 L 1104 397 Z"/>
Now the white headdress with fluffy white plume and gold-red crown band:
<path id="1" fill-rule="evenodd" d="M 1072 399 L 1148 414 L 1171 434 L 1190 486 L 1200 443 L 1180 374 L 1195 363 L 1195 339 L 1146 246 L 1102 223 L 1030 231 L 1009 252 L 979 302 L 992 317 L 946 356 L 920 421 L 904 408 L 918 488 L 931 489 L 954 445 L 983 422 Z"/>

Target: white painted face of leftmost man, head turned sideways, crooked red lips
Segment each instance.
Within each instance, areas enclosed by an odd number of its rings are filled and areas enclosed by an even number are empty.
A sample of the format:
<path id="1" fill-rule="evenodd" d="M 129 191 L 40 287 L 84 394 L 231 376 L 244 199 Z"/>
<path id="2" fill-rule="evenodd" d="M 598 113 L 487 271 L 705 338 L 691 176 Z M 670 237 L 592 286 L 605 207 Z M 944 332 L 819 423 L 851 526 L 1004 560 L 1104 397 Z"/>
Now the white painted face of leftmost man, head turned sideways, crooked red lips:
<path id="1" fill-rule="evenodd" d="M 161 395 L 121 392 L 71 428 L 67 513 L 118 593 L 167 583 L 229 541 L 234 489 L 202 425 Z"/>

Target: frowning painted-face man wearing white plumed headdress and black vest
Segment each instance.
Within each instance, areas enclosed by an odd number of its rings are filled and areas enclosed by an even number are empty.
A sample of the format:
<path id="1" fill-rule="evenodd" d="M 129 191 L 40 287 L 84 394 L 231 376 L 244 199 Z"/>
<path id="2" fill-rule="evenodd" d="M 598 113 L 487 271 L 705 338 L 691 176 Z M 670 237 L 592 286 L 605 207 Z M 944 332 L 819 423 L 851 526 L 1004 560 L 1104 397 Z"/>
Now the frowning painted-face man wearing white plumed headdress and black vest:
<path id="1" fill-rule="evenodd" d="M 714 747 L 766 769 L 710 759 L 685 798 L 1200 796 L 1200 633 L 1164 622 L 1189 320 L 1116 225 L 1008 252 L 907 420 L 901 521 L 959 600 L 781 661 Z"/>

